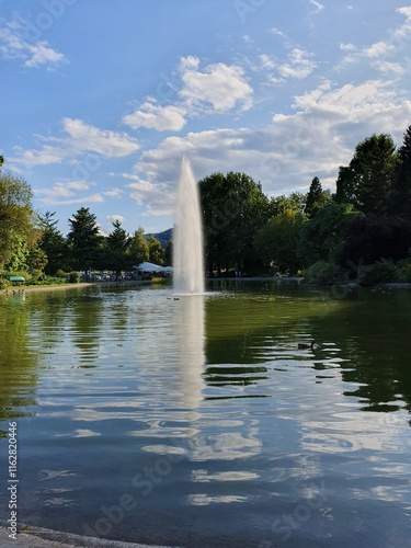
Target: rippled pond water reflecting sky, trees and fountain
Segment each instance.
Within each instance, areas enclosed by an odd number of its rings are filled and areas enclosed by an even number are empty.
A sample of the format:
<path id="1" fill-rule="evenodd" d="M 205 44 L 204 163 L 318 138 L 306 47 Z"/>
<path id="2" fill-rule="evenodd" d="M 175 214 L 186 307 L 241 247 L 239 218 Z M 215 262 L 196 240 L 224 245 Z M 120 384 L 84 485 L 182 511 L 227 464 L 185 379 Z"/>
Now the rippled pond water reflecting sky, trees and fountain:
<path id="1" fill-rule="evenodd" d="M 1 295 L 2 516 L 15 421 L 25 524 L 182 547 L 409 547 L 410 328 L 398 288 Z"/>

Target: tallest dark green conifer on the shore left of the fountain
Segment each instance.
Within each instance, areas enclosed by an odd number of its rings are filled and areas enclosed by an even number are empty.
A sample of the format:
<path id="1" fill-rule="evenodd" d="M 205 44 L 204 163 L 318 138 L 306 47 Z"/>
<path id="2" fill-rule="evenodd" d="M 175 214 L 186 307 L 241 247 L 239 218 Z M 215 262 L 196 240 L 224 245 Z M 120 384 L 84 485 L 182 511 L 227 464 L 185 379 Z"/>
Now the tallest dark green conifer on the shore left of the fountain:
<path id="1" fill-rule="evenodd" d="M 102 237 L 95 215 L 88 207 L 80 209 L 69 219 L 71 226 L 67 235 L 70 266 L 83 271 L 89 278 L 91 269 L 99 265 Z"/>

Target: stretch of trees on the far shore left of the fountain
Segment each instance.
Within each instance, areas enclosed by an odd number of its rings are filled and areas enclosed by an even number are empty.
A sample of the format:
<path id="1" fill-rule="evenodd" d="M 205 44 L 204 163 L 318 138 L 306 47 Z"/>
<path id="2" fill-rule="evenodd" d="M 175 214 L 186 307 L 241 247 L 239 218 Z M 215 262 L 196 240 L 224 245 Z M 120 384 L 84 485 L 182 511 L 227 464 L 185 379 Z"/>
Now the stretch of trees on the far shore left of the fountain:
<path id="1" fill-rule="evenodd" d="M 1 163 L 3 159 L 1 158 Z M 0 165 L 1 165 L 0 163 Z M 133 235 L 115 220 L 104 236 L 96 216 L 80 207 L 70 219 L 67 237 L 57 228 L 55 212 L 33 209 L 33 192 L 24 179 L 0 172 L 0 275 L 23 274 L 33 282 L 66 277 L 68 272 L 110 271 L 119 276 L 145 261 L 171 262 L 171 242 L 163 249 L 138 228 Z M 73 277 L 76 279 L 76 277 Z"/>

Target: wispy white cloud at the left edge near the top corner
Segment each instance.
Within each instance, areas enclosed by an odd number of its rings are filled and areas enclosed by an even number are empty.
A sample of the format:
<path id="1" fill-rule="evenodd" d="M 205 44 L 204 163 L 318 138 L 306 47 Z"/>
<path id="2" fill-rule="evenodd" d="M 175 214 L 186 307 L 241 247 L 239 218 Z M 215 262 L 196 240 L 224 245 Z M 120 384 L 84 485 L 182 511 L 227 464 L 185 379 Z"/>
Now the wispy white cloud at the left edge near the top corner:
<path id="1" fill-rule="evenodd" d="M 21 36 L 16 23 L 7 23 L 0 28 L 0 54 L 10 60 L 20 60 L 24 67 L 53 69 L 67 62 L 64 54 L 53 49 L 46 41 L 30 44 Z"/>

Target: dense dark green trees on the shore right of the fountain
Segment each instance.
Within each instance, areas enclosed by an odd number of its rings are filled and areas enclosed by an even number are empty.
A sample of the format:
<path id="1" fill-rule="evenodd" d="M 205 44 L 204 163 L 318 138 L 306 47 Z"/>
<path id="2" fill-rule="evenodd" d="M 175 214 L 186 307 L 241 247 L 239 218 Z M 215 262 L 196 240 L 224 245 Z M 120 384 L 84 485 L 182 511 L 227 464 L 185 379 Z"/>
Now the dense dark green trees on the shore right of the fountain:
<path id="1" fill-rule="evenodd" d="M 304 271 L 307 281 L 411 282 L 411 126 L 355 147 L 335 192 L 269 198 L 244 173 L 199 181 L 209 272 Z"/>

